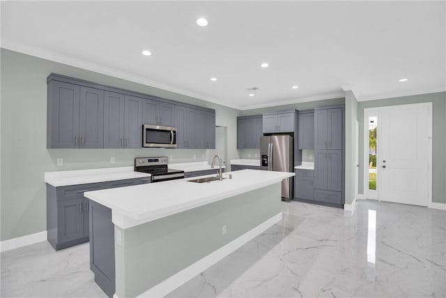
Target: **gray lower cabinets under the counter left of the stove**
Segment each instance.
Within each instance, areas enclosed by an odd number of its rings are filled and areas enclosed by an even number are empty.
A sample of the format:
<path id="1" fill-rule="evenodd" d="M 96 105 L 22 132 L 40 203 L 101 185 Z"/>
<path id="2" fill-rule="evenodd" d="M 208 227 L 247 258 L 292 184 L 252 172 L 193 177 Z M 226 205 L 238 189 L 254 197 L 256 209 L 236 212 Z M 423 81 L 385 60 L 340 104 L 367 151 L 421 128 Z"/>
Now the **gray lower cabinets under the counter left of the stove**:
<path id="1" fill-rule="evenodd" d="M 150 177 L 54 187 L 47 184 L 47 240 L 56 251 L 89 241 L 86 191 L 150 183 Z"/>

